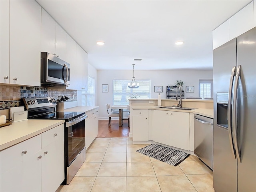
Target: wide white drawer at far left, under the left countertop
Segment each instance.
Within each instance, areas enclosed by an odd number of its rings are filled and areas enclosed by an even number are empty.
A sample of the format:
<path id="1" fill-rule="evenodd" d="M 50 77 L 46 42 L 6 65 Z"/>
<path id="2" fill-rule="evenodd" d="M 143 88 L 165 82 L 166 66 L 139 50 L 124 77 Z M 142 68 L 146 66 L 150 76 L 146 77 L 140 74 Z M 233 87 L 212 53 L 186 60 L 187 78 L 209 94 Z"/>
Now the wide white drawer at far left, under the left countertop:
<path id="1" fill-rule="evenodd" d="M 26 150 L 26 151 L 25 151 Z M 1 172 L 21 164 L 41 150 L 41 135 L 34 136 L 0 152 Z M 24 153 L 22 153 L 24 151 Z"/>

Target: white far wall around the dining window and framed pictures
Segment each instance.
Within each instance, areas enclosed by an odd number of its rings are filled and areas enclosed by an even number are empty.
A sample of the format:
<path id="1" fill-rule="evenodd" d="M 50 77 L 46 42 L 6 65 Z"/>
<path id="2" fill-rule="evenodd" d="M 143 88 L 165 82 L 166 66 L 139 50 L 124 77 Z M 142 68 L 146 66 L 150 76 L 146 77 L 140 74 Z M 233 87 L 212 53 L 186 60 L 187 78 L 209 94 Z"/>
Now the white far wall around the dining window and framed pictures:
<path id="1" fill-rule="evenodd" d="M 105 104 L 113 105 L 113 79 L 132 80 L 132 70 L 97 70 L 98 88 L 96 89 L 97 105 L 99 107 L 99 118 L 107 118 Z M 199 79 L 212 79 L 212 70 L 135 70 L 135 80 L 151 79 L 151 98 L 157 98 L 158 93 L 154 92 L 154 86 L 163 86 L 162 98 L 166 98 L 166 86 L 174 85 L 176 80 L 184 82 L 186 86 L 194 86 L 194 93 L 186 93 L 186 97 L 199 96 Z M 108 93 L 102 93 L 102 84 L 108 84 Z"/>

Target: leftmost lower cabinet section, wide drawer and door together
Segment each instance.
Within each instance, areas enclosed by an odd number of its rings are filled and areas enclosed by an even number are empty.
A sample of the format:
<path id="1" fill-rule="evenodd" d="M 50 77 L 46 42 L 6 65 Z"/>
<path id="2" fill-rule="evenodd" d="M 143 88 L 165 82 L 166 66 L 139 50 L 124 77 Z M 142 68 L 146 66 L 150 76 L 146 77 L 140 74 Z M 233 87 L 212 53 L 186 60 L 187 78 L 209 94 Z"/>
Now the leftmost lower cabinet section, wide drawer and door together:
<path id="1" fill-rule="evenodd" d="M 41 135 L 2 150 L 0 191 L 41 191 L 41 160 L 37 158 L 40 154 Z"/>

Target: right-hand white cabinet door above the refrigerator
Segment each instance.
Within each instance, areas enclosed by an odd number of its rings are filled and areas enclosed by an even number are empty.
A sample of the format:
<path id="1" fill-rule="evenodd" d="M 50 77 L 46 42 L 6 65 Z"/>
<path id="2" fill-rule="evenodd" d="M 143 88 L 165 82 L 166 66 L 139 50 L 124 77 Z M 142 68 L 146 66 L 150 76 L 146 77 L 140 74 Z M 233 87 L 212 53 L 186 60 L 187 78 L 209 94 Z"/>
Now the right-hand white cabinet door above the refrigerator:
<path id="1" fill-rule="evenodd" d="M 253 2 L 251 2 L 229 19 L 230 40 L 240 36 L 255 26 L 254 8 Z"/>

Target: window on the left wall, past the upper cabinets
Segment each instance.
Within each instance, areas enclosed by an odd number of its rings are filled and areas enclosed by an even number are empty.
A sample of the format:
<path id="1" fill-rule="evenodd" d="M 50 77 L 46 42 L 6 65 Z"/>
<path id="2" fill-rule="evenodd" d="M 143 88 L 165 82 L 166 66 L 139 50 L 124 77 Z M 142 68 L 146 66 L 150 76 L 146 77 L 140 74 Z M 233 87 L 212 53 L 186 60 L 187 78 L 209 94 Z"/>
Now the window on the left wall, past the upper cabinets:
<path id="1" fill-rule="evenodd" d="M 95 105 L 95 78 L 88 76 L 88 89 L 82 91 L 82 106 Z"/>

